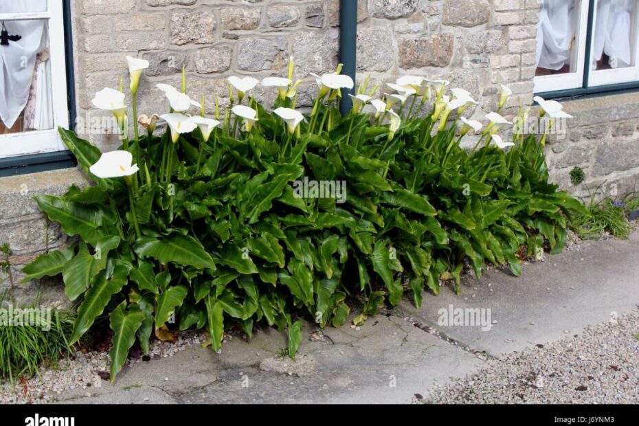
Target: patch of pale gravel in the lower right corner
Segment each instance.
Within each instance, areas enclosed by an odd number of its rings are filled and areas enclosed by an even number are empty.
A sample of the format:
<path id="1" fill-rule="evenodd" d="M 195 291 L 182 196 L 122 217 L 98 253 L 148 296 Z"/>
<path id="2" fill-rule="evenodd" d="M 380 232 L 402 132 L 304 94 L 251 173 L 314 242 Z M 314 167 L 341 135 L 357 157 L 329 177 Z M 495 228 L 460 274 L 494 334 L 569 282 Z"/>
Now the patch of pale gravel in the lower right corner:
<path id="1" fill-rule="evenodd" d="M 421 402 L 639 403 L 639 310 L 580 335 L 491 358 Z"/>

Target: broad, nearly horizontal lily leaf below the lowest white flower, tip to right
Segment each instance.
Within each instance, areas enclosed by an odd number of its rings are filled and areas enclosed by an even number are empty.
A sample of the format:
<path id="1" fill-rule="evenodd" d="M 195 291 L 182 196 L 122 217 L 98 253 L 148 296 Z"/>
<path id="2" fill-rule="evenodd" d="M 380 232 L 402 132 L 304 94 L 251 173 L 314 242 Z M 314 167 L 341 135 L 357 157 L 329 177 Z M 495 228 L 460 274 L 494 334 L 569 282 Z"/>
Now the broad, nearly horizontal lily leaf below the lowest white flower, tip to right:
<path id="1" fill-rule="evenodd" d="M 144 236 L 135 241 L 133 249 L 139 256 L 154 258 L 164 265 L 175 262 L 199 269 L 215 269 L 210 254 L 197 239 L 188 235 L 172 234 L 162 239 Z"/>

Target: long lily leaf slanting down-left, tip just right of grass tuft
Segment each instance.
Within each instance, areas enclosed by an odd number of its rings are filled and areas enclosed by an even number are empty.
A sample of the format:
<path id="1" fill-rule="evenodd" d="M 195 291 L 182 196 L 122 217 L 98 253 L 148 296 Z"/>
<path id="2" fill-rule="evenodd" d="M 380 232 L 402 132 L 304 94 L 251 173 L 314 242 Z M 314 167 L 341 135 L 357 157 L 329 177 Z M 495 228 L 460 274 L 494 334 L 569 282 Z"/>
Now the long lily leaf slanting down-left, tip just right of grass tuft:
<path id="1" fill-rule="evenodd" d="M 78 307 L 70 344 L 76 343 L 82 335 L 87 333 L 96 317 L 102 315 L 106 304 L 109 303 L 114 294 L 120 293 L 124 284 L 126 284 L 126 280 L 107 280 L 104 271 L 92 280 L 91 288 L 85 293 L 84 302 Z"/>

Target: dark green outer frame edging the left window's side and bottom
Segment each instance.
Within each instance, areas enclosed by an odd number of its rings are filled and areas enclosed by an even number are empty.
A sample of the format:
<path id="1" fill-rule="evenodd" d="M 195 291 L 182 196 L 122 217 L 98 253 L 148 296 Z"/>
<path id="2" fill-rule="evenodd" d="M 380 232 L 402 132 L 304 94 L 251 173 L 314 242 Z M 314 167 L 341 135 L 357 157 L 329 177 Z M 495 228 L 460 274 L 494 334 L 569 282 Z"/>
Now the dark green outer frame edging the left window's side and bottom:
<path id="1" fill-rule="evenodd" d="M 71 31 L 71 0 L 63 0 L 65 25 L 65 60 L 67 71 L 67 106 L 69 108 L 69 126 L 76 122 L 76 85 L 74 80 L 73 32 Z M 21 155 L 0 159 L 0 177 L 25 175 L 76 166 L 76 159 L 67 150 L 57 153 Z"/>

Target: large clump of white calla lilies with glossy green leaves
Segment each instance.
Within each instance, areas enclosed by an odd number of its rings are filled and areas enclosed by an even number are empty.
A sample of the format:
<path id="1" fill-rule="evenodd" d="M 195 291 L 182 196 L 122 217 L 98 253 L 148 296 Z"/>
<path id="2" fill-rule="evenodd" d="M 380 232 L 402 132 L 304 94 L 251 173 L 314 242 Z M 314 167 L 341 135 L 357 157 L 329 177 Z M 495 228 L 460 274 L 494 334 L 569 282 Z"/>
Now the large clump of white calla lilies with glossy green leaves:
<path id="1" fill-rule="evenodd" d="M 134 100 L 145 62 L 129 58 Z M 170 328 L 206 328 L 220 350 L 225 330 L 250 336 L 265 322 L 289 329 L 294 357 L 302 323 L 293 311 L 340 326 L 347 298 L 358 296 L 359 323 L 404 293 L 419 306 L 440 280 L 459 291 L 466 262 L 477 276 L 487 263 L 519 275 L 523 247 L 560 251 L 566 215 L 585 211 L 548 183 L 545 135 L 519 131 L 504 142 L 498 132 L 512 123 L 498 113 L 480 131 L 482 123 L 462 117 L 476 103 L 462 89 L 451 99 L 447 82 L 406 76 L 389 85 L 394 94 L 373 100 L 367 80 L 343 117 L 341 90 L 353 82 L 338 69 L 317 76 L 313 110 L 302 115 L 293 67 L 288 78 L 262 81 L 278 93 L 272 111 L 250 96 L 258 81 L 245 77 L 229 78 L 229 105 L 220 111 L 216 101 L 214 119 L 203 109 L 188 116 L 198 102 L 183 78 L 181 91 L 158 85 L 172 113 L 142 115 L 146 134 L 134 126 L 132 139 L 124 94 L 96 94 L 93 103 L 122 124 L 120 151 L 101 154 L 60 129 L 96 185 L 36 197 L 79 240 L 24 272 L 26 280 L 62 274 L 69 299 L 82 300 L 72 343 L 109 314 L 112 379 L 136 340 L 148 352 L 151 335 L 171 339 Z M 548 105 L 551 123 L 566 115 Z M 164 133 L 156 134 L 158 118 Z M 471 132 L 475 148 L 460 148 Z"/>

